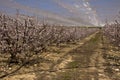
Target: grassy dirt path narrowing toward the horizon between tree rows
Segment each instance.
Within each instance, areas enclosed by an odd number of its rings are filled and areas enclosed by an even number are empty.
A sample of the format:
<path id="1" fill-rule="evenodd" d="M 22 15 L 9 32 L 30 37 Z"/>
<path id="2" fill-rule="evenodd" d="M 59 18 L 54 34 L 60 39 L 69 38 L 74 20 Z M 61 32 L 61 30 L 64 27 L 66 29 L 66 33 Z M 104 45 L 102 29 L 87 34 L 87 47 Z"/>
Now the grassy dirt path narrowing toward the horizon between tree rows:
<path id="1" fill-rule="evenodd" d="M 55 80 L 111 80 L 104 72 L 101 37 L 98 33 L 84 46 L 71 50 L 72 62 L 57 74 Z"/>

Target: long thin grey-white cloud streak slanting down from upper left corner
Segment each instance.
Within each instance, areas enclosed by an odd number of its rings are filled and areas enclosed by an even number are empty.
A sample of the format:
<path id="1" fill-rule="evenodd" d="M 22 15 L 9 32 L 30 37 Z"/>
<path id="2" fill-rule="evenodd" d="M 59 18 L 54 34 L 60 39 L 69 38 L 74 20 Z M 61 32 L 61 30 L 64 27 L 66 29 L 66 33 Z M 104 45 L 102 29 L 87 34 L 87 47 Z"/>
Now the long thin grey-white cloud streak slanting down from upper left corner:
<path id="1" fill-rule="evenodd" d="M 53 12 L 50 11 L 45 11 L 45 10 L 41 10 L 41 9 L 36 9 L 36 8 L 32 8 L 29 6 L 25 6 L 25 5 L 21 5 L 17 2 L 13 2 L 10 0 L 1 0 L 2 3 L 0 3 L 0 5 L 2 4 L 3 6 L 12 8 L 12 9 L 20 9 L 20 10 L 24 10 L 26 12 L 32 13 L 32 14 L 36 14 L 39 16 L 43 16 L 49 19 L 55 19 L 56 21 L 62 21 L 62 22 L 66 22 L 66 23 L 70 23 L 70 24 L 79 24 L 75 21 L 69 20 L 66 17 L 62 16 L 62 15 L 58 15 L 55 14 Z"/>

